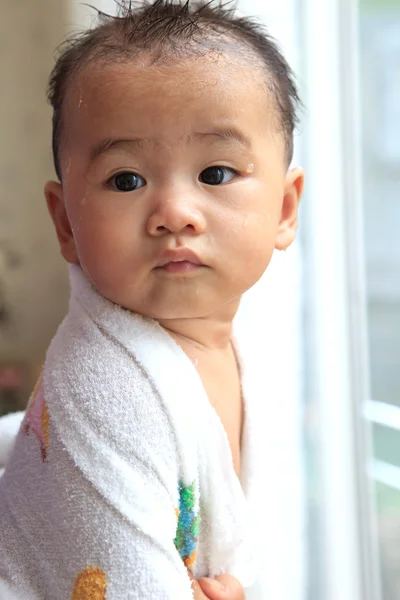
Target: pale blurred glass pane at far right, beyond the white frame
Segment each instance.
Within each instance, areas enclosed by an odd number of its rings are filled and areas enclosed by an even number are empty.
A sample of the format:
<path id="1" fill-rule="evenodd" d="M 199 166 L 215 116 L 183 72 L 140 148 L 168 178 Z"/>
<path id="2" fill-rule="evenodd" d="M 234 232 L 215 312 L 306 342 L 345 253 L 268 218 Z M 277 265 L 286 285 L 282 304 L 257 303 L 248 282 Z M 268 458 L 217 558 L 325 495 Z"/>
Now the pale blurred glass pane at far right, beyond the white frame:
<path id="1" fill-rule="evenodd" d="M 365 240 L 383 600 L 400 598 L 400 0 L 361 0 Z M 395 415 L 396 411 L 389 413 Z M 389 422 L 388 422 L 389 421 Z M 397 418 L 399 422 L 399 418 Z"/>

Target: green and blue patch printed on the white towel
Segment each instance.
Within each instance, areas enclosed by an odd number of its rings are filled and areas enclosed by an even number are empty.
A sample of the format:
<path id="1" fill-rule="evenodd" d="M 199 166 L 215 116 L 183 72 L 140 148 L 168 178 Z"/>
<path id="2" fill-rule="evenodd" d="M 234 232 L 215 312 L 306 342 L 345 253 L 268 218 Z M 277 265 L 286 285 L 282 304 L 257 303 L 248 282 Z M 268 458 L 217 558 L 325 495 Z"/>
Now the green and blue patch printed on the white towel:
<path id="1" fill-rule="evenodd" d="M 178 523 L 174 543 L 185 566 L 188 568 L 194 565 L 197 553 L 200 516 L 196 515 L 195 505 L 195 483 L 185 486 L 183 482 L 180 482 L 179 509 L 176 509 Z"/>

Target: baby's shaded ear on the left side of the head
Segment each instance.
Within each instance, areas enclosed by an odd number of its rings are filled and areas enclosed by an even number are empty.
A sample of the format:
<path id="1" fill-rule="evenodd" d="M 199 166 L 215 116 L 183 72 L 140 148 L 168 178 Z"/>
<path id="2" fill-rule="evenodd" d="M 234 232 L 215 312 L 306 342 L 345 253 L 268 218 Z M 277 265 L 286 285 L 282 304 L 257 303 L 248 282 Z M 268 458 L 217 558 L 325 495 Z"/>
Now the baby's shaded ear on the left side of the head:
<path id="1" fill-rule="evenodd" d="M 62 185 L 57 181 L 48 181 L 44 188 L 44 195 L 46 197 L 47 208 L 56 228 L 61 254 L 67 262 L 77 263 L 78 253 L 75 248 L 75 240 L 64 204 Z"/>

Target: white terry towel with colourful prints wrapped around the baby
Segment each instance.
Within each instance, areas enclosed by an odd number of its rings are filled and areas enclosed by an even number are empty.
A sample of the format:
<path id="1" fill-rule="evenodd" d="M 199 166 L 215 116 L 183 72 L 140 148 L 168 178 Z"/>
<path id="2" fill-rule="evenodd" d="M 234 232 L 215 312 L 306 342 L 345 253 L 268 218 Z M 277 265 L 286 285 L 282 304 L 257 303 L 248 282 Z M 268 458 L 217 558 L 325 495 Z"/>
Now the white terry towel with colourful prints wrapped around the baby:
<path id="1" fill-rule="evenodd" d="M 71 284 L 0 478 L 0 598 L 189 600 L 185 564 L 250 585 L 251 469 L 242 488 L 195 367 L 79 267 Z"/>

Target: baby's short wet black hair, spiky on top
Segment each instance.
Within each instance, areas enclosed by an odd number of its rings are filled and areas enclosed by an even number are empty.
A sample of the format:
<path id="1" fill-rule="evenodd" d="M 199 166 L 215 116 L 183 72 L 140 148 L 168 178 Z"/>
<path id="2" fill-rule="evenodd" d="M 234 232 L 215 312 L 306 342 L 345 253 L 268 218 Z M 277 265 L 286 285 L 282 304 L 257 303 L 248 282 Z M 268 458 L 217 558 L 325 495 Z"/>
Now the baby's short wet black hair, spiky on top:
<path id="1" fill-rule="evenodd" d="M 252 51 L 264 67 L 268 87 L 276 103 L 285 138 L 288 163 L 293 157 L 293 134 L 297 124 L 299 95 L 293 72 L 276 41 L 263 25 L 235 14 L 232 3 L 222 0 L 142 0 L 138 4 L 117 1 L 116 16 L 98 12 L 98 24 L 69 38 L 50 76 L 48 100 L 53 108 L 53 158 L 61 181 L 60 145 L 63 102 L 71 79 L 91 61 L 128 60 L 150 51 L 163 60 L 197 50 L 217 38 L 235 41 Z"/>

